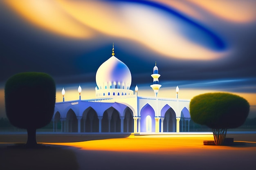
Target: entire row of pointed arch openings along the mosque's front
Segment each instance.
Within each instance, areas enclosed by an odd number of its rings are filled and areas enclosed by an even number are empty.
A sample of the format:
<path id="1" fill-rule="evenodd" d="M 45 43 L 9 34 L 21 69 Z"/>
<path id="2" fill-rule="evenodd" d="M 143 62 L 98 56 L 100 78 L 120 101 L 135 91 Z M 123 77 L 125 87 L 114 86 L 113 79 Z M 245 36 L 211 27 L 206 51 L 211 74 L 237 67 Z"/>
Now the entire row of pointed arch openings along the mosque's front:
<path id="1" fill-rule="evenodd" d="M 175 111 L 166 106 L 159 117 L 159 132 L 176 132 L 177 121 Z M 180 132 L 189 132 L 189 111 L 184 108 L 180 118 Z M 99 117 L 96 111 L 89 107 L 84 110 L 82 117 L 77 117 L 72 109 L 67 112 L 67 118 L 61 118 L 56 112 L 53 119 L 54 132 L 134 132 L 132 110 L 127 108 L 124 117 L 120 117 L 118 110 L 113 107 L 104 111 Z M 137 119 L 137 132 L 155 132 L 155 112 L 146 104 L 141 109 L 141 117 Z M 58 128 L 61 127 L 61 128 Z M 139 129 L 140 128 L 140 129 Z"/>

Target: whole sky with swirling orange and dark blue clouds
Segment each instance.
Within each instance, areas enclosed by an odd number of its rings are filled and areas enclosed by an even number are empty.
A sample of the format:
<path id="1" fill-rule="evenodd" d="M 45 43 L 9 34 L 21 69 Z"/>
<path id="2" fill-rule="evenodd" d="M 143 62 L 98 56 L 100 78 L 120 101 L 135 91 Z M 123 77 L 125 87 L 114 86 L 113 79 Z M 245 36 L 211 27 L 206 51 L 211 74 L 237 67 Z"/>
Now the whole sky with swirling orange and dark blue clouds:
<path id="1" fill-rule="evenodd" d="M 247 99 L 256 117 L 255 0 L 0 0 L 0 117 L 4 84 L 27 71 L 56 82 L 56 102 L 95 97 L 95 75 L 111 57 L 132 75 L 131 90 L 191 99 L 229 92 Z M 35 95 L 40 95 L 40 92 Z M 29 103 L 29 101 L 28 101 Z"/>

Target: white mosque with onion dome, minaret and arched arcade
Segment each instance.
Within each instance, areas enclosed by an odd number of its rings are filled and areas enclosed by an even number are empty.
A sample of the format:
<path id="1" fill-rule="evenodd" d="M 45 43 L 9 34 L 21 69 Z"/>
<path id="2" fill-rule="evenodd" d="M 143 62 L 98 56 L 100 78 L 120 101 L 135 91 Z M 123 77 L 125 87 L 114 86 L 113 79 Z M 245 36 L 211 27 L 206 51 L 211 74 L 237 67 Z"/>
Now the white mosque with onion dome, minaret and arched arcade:
<path id="1" fill-rule="evenodd" d="M 79 99 L 55 104 L 54 132 L 189 132 L 190 100 L 177 97 L 159 98 L 157 93 L 160 74 L 155 63 L 153 68 L 154 97 L 138 96 L 138 87 L 130 90 L 132 76 L 129 68 L 114 53 L 99 66 L 96 73 L 95 98 Z M 58 127 L 61 126 L 61 129 Z"/>

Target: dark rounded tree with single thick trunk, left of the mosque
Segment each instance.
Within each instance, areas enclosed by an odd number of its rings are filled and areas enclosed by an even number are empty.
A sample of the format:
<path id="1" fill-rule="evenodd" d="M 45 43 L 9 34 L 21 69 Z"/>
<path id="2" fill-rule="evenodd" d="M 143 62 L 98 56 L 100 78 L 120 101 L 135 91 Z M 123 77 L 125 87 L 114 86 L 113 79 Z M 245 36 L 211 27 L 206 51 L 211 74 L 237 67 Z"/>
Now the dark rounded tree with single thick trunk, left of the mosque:
<path id="1" fill-rule="evenodd" d="M 35 146 L 36 129 L 49 124 L 54 113 L 54 79 L 46 73 L 18 73 L 7 80 L 4 95 L 10 123 L 27 129 L 26 145 Z"/>

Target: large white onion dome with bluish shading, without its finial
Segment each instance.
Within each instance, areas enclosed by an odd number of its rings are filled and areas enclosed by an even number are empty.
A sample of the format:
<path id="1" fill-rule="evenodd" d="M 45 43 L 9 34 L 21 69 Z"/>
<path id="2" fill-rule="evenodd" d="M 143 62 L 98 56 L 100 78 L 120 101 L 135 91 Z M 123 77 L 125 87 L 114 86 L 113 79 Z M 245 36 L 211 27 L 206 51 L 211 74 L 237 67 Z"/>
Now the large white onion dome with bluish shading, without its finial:
<path id="1" fill-rule="evenodd" d="M 129 68 L 114 55 L 99 66 L 96 72 L 96 84 L 99 89 L 130 89 L 132 75 Z"/>

